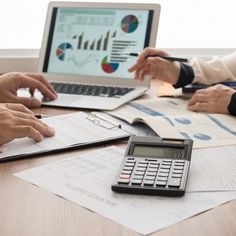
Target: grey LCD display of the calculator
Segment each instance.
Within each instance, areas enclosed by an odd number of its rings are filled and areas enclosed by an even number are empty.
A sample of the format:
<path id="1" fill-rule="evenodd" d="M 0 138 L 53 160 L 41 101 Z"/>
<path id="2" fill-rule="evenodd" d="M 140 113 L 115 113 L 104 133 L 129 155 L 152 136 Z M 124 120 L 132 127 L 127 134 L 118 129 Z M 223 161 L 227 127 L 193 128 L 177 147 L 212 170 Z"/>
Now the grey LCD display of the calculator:
<path id="1" fill-rule="evenodd" d="M 183 158 L 184 148 L 134 145 L 133 156 Z"/>

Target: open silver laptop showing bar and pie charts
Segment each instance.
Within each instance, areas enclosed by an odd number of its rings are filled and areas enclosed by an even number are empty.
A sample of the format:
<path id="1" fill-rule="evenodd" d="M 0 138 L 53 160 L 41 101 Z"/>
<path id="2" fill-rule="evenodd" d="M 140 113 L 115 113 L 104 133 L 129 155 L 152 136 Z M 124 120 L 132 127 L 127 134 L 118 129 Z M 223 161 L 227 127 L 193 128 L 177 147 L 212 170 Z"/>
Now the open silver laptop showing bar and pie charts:
<path id="1" fill-rule="evenodd" d="M 128 72 L 141 52 L 155 46 L 159 4 L 51 2 L 38 72 L 58 92 L 47 106 L 113 110 L 142 95 L 150 78 Z"/>

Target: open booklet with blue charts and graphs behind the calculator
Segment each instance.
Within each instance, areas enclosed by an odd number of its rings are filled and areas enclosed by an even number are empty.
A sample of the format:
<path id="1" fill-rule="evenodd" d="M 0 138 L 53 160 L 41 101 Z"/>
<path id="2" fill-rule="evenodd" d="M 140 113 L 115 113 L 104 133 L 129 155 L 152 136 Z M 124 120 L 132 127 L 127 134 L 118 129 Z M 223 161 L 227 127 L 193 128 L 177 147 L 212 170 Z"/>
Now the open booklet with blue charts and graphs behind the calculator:
<path id="1" fill-rule="evenodd" d="M 186 106 L 187 101 L 182 99 L 143 99 L 108 113 L 130 124 L 143 122 L 161 137 L 190 138 L 194 148 L 236 143 L 235 117 L 190 112 Z"/>

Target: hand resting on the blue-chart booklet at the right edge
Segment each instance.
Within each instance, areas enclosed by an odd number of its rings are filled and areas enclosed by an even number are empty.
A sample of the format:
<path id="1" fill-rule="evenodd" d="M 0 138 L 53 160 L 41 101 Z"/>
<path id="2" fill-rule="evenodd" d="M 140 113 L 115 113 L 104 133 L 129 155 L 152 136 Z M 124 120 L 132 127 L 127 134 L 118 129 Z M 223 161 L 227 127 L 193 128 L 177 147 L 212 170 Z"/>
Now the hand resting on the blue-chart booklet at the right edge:
<path id="1" fill-rule="evenodd" d="M 199 89 L 189 100 L 187 109 L 208 113 L 229 113 L 228 105 L 235 90 L 218 84 L 206 89 Z"/>

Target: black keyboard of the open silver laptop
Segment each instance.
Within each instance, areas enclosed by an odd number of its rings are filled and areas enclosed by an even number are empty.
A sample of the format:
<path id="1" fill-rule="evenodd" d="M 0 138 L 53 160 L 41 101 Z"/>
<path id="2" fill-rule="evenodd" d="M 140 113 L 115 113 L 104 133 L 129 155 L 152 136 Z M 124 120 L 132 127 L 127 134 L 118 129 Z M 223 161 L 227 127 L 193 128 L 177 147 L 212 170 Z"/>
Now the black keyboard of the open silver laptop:
<path id="1" fill-rule="evenodd" d="M 77 94 L 86 96 L 100 96 L 100 97 L 116 97 L 126 95 L 134 90 L 134 88 L 112 87 L 112 86 L 96 86 L 87 84 L 66 84 L 55 83 L 51 85 L 58 93 Z"/>

